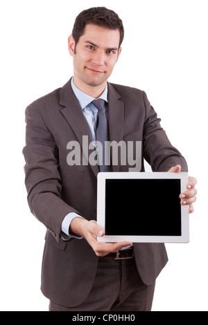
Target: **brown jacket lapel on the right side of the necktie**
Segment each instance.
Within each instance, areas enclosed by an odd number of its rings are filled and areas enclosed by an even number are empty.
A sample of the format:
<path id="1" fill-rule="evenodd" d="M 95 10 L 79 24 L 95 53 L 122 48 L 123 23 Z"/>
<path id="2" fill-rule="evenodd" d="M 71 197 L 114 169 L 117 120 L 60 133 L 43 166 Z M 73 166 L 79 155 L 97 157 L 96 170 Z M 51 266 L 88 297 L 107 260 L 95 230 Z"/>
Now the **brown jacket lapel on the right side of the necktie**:
<path id="1" fill-rule="evenodd" d="M 112 84 L 108 83 L 108 124 L 110 141 L 119 143 L 123 140 L 124 104 L 119 100 L 121 95 L 116 92 Z M 113 171 L 119 171 L 121 155 L 119 154 L 118 165 L 113 165 Z"/>

